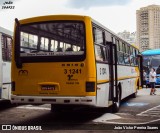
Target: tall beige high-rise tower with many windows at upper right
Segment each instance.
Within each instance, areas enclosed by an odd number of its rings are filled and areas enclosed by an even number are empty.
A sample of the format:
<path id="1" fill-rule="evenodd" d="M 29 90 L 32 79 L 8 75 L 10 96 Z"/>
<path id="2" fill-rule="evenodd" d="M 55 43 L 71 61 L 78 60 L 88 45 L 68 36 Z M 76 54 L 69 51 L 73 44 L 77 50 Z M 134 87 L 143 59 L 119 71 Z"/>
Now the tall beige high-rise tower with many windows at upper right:
<path id="1" fill-rule="evenodd" d="M 160 48 L 160 6 L 142 7 L 136 12 L 137 40 L 140 51 Z"/>

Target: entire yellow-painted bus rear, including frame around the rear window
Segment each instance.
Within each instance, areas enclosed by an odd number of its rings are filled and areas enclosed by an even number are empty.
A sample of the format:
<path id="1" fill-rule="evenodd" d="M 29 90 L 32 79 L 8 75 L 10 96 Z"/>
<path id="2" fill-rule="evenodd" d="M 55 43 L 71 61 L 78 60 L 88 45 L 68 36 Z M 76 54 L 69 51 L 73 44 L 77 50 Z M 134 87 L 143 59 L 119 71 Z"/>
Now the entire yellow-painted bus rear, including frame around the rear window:
<path id="1" fill-rule="evenodd" d="M 18 98 L 20 102 L 30 103 L 28 99 L 21 101 L 21 97 L 26 98 L 39 98 L 51 97 L 54 99 L 63 99 L 65 97 L 85 97 L 93 96 L 93 102 L 95 104 L 96 86 L 94 92 L 86 92 L 86 82 L 96 83 L 95 72 L 95 58 L 93 49 L 92 33 L 90 32 L 91 20 L 89 17 L 77 17 L 77 16 L 50 16 L 50 17 L 37 17 L 33 19 L 26 19 L 20 21 L 20 24 L 34 23 L 41 21 L 54 21 L 54 20 L 79 20 L 83 21 L 85 25 L 86 34 L 86 58 L 81 62 L 38 62 L 38 63 L 23 63 L 22 68 L 16 67 L 14 57 L 12 60 L 12 81 L 15 82 L 15 91 L 12 91 L 12 98 L 16 102 Z M 16 26 L 16 25 L 15 25 Z M 15 40 L 14 40 L 15 41 Z M 14 46 L 15 47 L 15 46 Z M 14 56 L 14 55 L 13 55 Z M 90 64 L 93 64 L 92 66 Z M 19 82 L 21 81 L 21 82 Z M 45 90 L 44 86 L 53 85 L 55 89 Z M 15 97 L 16 96 L 16 97 Z M 52 102 L 53 104 L 60 104 Z M 84 100 L 85 101 L 85 100 Z M 36 100 L 34 101 L 36 102 Z M 38 101 L 37 101 L 38 102 Z M 45 101 L 44 103 L 50 103 Z M 72 104 L 70 102 L 69 104 Z"/>

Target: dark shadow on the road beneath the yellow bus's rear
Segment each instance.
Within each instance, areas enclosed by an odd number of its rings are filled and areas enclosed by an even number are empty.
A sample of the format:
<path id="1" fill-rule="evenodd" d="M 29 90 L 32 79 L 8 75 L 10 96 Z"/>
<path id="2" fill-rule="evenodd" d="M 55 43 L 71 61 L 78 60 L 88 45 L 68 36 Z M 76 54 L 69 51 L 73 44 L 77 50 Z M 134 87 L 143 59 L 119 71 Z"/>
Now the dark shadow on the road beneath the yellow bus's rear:
<path id="1" fill-rule="evenodd" d="M 93 126 L 90 122 L 105 113 L 110 112 L 110 108 L 79 108 L 72 111 L 63 111 L 59 113 L 48 112 L 32 119 L 12 123 L 16 125 L 38 125 L 43 129 L 76 129 L 84 128 L 84 123 Z"/>

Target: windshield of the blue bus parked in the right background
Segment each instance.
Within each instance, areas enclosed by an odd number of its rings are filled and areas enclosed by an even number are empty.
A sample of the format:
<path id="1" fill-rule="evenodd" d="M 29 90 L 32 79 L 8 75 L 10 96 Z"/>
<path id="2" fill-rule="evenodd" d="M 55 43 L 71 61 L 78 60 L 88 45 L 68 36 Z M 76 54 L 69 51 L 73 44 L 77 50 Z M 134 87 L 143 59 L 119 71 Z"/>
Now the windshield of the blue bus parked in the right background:
<path id="1" fill-rule="evenodd" d="M 160 55 L 143 56 L 143 67 L 144 70 L 149 73 L 150 68 L 155 68 L 157 74 L 160 74 L 158 67 L 160 66 Z"/>

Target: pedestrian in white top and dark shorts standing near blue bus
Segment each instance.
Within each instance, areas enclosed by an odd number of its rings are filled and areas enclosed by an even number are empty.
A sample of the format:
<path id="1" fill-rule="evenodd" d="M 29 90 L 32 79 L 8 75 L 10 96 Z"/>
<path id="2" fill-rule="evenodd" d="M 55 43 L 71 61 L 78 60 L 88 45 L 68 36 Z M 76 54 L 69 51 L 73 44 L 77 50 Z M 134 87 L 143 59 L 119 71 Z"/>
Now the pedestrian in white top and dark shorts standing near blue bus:
<path id="1" fill-rule="evenodd" d="M 151 92 L 150 95 L 155 94 L 155 82 L 156 82 L 156 72 L 154 68 L 151 68 L 151 71 L 149 73 L 149 82 L 150 82 L 150 86 L 151 86 Z"/>

